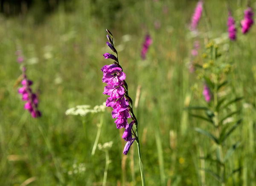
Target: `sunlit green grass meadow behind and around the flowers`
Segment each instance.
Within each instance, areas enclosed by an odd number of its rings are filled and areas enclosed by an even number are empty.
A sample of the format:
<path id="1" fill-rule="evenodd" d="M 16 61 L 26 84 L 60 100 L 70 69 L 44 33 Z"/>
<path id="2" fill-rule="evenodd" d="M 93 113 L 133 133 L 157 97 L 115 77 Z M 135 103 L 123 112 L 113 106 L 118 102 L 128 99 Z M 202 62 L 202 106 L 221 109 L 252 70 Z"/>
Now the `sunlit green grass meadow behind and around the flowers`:
<path id="1" fill-rule="evenodd" d="M 189 72 L 188 63 L 195 40 L 200 41 L 195 60 L 201 62 L 209 41 L 227 37 L 227 2 L 237 25 L 246 3 L 205 0 L 195 38 L 189 22 L 196 2 L 76 0 L 70 5 L 72 11 L 60 5 L 40 23 L 32 14 L 0 16 L 0 186 L 102 185 L 105 152 L 97 148 L 91 155 L 101 117 L 99 143 L 113 141 L 107 186 L 140 185 L 136 144 L 127 156 L 122 154 L 122 130 L 116 129 L 111 109 L 85 117 L 65 114 L 77 105 L 101 105 L 107 98 L 102 94 L 100 71 L 111 64 L 102 57 L 111 52 L 105 45 L 106 28 L 114 35 L 133 100 L 141 86 L 135 113 L 147 185 L 220 185 L 201 169 L 216 169 L 214 162 L 200 159 L 214 153 L 215 145 L 194 130 L 211 129 L 184 109 L 207 105 L 202 94 L 204 83 Z M 251 6 L 256 9 L 256 1 L 251 0 Z M 153 43 L 146 60 L 141 60 L 147 33 Z M 228 170 L 241 169 L 227 178 L 227 186 L 256 185 L 255 34 L 255 26 L 246 35 L 238 28 L 237 40 L 224 44 L 228 49 L 223 63 L 233 64 L 227 76 L 227 94 L 243 97 L 236 104 L 241 107 L 243 122 L 226 143 L 241 142 L 227 162 Z M 17 49 L 23 51 L 27 76 L 39 96 L 40 118 L 32 118 L 23 109 L 17 93 L 21 74 Z"/>

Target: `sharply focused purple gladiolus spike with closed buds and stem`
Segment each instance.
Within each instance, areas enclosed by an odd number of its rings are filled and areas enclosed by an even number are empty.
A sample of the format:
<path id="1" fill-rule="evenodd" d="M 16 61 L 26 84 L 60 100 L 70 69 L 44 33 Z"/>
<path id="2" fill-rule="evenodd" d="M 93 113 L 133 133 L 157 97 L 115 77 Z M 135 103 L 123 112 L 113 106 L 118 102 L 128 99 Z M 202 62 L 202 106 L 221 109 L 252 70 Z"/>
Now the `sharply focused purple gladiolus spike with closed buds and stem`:
<path id="1" fill-rule="evenodd" d="M 125 82 L 126 74 L 123 72 L 122 66 L 119 64 L 118 53 L 114 47 L 113 34 L 108 29 L 106 29 L 106 31 L 108 33 L 107 45 L 116 53 L 116 56 L 110 53 L 103 54 L 105 59 L 113 60 L 113 64 L 105 65 L 101 69 L 103 72 L 102 82 L 107 84 L 104 88 L 103 94 L 107 94 L 109 96 L 106 101 L 106 106 L 113 108 L 112 117 L 116 119 L 116 128 L 125 129 L 122 138 L 127 142 L 124 147 L 123 154 L 128 154 L 134 141 L 137 143 L 142 186 L 145 186 L 145 175 L 140 154 L 138 121 L 133 112 L 131 97 L 129 97 L 128 94 L 128 85 Z M 128 118 L 131 118 L 130 123 L 128 123 Z"/>

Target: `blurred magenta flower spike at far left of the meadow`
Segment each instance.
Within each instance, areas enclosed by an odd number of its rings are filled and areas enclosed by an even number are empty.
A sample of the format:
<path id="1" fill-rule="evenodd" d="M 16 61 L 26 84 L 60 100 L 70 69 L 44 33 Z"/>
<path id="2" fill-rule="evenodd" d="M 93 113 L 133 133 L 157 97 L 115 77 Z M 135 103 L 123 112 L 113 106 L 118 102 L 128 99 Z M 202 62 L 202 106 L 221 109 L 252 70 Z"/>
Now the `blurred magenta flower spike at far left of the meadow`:
<path id="1" fill-rule="evenodd" d="M 22 94 L 22 100 L 26 101 L 24 109 L 28 110 L 32 117 L 41 117 L 41 112 L 38 110 L 37 95 L 32 92 L 30 86 L 33 84 L 31 80 L 26 77 L 26 68 L 23 67 L 23 80 L 21 81 L 22 87 L 18 89 L 18 93 Z"/>

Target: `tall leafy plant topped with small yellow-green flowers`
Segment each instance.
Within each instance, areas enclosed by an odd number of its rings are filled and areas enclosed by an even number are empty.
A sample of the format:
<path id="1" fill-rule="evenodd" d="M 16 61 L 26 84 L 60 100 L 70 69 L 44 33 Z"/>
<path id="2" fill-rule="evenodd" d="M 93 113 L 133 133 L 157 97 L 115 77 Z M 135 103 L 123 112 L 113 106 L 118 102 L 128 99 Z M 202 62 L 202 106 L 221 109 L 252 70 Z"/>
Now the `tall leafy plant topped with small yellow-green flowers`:
<path id="1" fill-rule="evenodd" d="M 195 131 L 213 142 L 211 149 L 214 150 L 201 158 L 216 164 L 215 170 L 206 167 L 204 171 L 215 177 L 222 186 L 226 185 L 230 176 L 241 169 L 238 167 L 230 170 L 228 166 L 229 158 L 240 144 L 239 141 L 235 141 L 230 146 L 227 139 L 242 123 L 239 115 L 241 110 L 239 106 L 234 106 L 242 97 L 236 97 L 230 89 L 230 72 L 234 65 L 229 62 L 226 53 L 224 48 L 219 49 L 213 41 L 207 44 L 202 55 L 203 62 L 195 65 L 198 79 L 203 81 L 204 105 L 187 107 L 192 117 L 210 125 L 208 128 L 195 128 Z"/>

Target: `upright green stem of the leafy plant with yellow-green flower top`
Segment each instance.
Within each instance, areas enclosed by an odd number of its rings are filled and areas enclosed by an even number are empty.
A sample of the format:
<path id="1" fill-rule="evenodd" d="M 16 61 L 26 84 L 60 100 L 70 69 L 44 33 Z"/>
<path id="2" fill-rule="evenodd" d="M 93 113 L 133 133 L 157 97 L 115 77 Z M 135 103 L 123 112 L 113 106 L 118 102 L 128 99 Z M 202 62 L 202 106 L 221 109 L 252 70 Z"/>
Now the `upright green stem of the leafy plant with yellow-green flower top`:
<path id="1" fill-rule="evenodd" d="M 217 109 L 218 106 L 218 77 L 215 80 L 215 86 L 214 86 L 214 91 L 213 91 L 213 99 L 214 99 L 214 107 L 215 107 L 215 120 L 214 120 L 214 124 L 215 124 L 215 133 L 216 133 L 216 137 L 219 139 L 220 138 L 220 133 L 221 133 L 221 123 L 219 122 L 219 111 Z M 217 158 L 218 160 L 221 162 L 220 164 L 220 177 L 221 177 L 221 186 L 225 186 L 226 185 L 226 178 L 225 178 L 225 164 L 224 164 L 224 158 L 223 158 L 223 146 L 222 143 L 217 144 L 218 145 L 218 154 L 217 154 Z"/>

